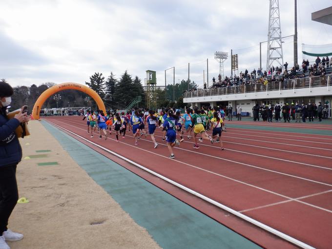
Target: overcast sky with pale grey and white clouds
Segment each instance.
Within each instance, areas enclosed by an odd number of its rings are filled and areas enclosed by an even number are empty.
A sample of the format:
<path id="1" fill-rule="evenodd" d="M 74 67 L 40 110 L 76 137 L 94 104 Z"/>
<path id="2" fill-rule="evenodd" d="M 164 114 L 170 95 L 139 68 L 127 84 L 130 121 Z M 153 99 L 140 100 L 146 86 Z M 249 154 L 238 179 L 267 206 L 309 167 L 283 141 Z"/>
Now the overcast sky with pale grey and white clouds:
<path id="1" fill-rule="evenodd" d="M 279 0 L 282 36 L 294 33 L 292 0 Z M 298 1 L 301 43 L 332 43 L 332 26 L 311 21 L 331 0 Z M 259 42 L 267 40 L 269 0 L 1 0 L 0 78 L 12 85 L 84 83 L 94 72 L 120 77 L 125 70 L 144 82 L 145 70 L 175 66 L 175 80 L 203 84 L 219 73 L 215 51 L 239 56 L 239 69 L 259 67 Z M 292 38 L 283 43 L 293 62 Z M 266 65 L 266 43 L 262 45 Z M 326 51 L 331 52 L 331 51 Z M 225 62 L 230 75 L 230 59 Z M 173 72 L 167 71 L 167 83 Z"/>

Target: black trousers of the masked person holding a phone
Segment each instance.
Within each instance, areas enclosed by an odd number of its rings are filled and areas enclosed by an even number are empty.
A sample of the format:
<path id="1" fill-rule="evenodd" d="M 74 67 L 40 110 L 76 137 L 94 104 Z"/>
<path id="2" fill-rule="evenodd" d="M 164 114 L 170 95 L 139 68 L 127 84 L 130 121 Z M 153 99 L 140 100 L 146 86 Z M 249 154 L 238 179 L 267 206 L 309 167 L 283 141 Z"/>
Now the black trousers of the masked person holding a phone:
<path id="1" fill-rule="evenodd" d="M 7 230 L 9 216 L 19 199 L 16 166 L 0 167 L 0 235 Z"/>

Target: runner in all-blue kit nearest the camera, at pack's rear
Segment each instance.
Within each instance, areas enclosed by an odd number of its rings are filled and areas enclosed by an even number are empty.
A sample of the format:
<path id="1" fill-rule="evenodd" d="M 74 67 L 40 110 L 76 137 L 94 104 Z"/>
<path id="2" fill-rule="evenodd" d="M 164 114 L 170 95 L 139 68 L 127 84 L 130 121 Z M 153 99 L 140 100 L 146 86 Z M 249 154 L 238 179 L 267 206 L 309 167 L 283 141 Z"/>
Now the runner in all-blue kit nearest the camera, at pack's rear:
<path id="1" fill-rule="evenodd" d="M 178 127 L 178 123 L 176 121 L 176 117 L 173 115 L 172 110 L 168 110 L 167 112 L 167 118 L 164 122 L 164 124 L 161 126 L 161 128 L 166 128 L 166 141 L 167 141 L 167 147 L 170 152 L 170 159 L 174 159 L 174 153 L 173 148 L 174 145 L 180 145 L 179 141 L 176 139 L 176 129 Z"/>

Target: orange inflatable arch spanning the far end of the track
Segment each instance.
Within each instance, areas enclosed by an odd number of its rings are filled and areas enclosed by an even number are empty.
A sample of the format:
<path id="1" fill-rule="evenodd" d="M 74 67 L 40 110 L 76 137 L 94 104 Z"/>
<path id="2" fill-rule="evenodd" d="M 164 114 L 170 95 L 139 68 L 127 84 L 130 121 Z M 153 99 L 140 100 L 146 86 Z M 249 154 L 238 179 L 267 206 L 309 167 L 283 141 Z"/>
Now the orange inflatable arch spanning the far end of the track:
<path id="1" fill-rule="evenodd" d="M 88 94 L 92 99 L 94 99 L 96 101 L 98 108 L 100 110 L 103 110 L 104 113 L 106 113 L 106 108 L 105 108 L 104 102 L 103 102 L 102 98 L 98 95 L 98 93 L 96 93 L 94 90 L 87 87 L 86 85 L 69 82 L 69 83 L 62 83 L 62 84 L 54 85 L 54 86 L 48 88 L 46 91 L 44 91 L 41 94 L 41 96 L 39 96 L 38 100 L 36 101 L 36 104 L 33 107 L 32 117 L 34 119 L 39 119 L 39 114 L 41 112 L 41 108 L 42 108 L 42 105 L 44 104 L 44 102 L 49 97 L 51 97 L 53 94 L 60 92 L 62 90 L 68 90 L 68 89 L 78 90 L 78 91 Z"/>

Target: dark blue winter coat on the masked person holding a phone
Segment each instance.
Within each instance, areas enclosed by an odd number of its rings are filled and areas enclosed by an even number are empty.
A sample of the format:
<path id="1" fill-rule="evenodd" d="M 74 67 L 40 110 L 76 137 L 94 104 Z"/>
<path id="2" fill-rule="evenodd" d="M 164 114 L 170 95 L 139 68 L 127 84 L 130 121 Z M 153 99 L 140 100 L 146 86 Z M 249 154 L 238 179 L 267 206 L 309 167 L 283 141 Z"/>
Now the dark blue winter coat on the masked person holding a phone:
<path id="1" fill-rule="evenodd" d="M 22 149 L 15 129 L 20 125 L 17 119 L 8 120 L 0 110 L 0 167 L 18 164 Z"/>

